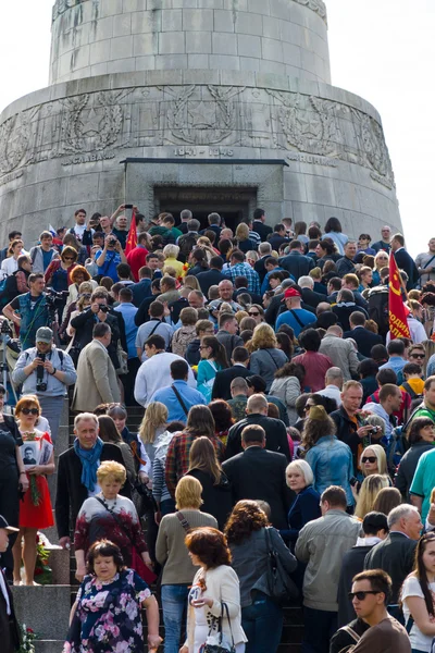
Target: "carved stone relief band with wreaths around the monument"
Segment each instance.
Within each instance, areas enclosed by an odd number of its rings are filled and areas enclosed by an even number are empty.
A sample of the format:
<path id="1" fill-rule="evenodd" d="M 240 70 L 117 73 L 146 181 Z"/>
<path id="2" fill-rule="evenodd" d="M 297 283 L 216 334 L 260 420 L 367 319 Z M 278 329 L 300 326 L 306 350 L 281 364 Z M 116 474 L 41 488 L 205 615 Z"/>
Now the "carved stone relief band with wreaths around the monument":
<path id="1" fill-rule="evenodd" d="M 88 93 L 23 111 L 0 125 L 0 175 L 47 159 L 79 164 L 167 145 L 179 157 L 236 157 L 243 147 L 346 161 L 394 187 L 382 126 L 366 113 L 297 93 L 206 84 Z"/>

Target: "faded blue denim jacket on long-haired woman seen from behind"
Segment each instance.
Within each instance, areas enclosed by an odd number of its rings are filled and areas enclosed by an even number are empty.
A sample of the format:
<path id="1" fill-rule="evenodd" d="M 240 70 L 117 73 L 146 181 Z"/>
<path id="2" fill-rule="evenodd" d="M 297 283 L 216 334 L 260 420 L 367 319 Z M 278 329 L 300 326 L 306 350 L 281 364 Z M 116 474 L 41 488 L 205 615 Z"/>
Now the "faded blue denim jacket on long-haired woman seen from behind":
<path id="1" fill-rule="evenodd" d="M 306 460 L 314 475 L 314 490 L 322 494 L 330 485 L 340 485 L 347 503 L 353 505 L 350 479 L 353 476 L 352 453 L 336 435 L 324 435 L 307 452 Z"/>

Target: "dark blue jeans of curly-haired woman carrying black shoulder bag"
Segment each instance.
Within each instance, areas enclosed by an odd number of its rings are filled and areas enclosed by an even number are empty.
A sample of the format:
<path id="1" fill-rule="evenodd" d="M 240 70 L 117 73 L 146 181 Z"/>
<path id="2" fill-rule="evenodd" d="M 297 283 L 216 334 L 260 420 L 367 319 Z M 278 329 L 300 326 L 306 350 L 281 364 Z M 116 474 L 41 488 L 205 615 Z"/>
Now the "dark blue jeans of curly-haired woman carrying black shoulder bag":
<path id="1" fill-rule="evenodd" d="M 248 638 L 246 653 L 276 653 L 283 631 L 282 608 L 257 592 L 252 605 L 241 608 L 241 628 Z"/>

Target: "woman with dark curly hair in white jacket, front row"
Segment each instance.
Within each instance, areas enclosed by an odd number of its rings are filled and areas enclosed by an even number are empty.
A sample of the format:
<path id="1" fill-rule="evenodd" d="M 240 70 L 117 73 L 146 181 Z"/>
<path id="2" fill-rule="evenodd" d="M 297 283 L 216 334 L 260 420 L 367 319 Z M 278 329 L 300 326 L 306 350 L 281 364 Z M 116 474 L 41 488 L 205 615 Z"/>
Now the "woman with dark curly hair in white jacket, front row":
<path id="1" fill-rule="evenodd" d="M 220 629 L 235 653 L 245 653 L 239 580 L 231 567 L 225 535 L 215 528 L 196 528 L 185 542 L 192 564 L 200 569 L 189 591 L 187 637 L 179 653 L 200 653 L 208 638 L 217 637 Z"/>

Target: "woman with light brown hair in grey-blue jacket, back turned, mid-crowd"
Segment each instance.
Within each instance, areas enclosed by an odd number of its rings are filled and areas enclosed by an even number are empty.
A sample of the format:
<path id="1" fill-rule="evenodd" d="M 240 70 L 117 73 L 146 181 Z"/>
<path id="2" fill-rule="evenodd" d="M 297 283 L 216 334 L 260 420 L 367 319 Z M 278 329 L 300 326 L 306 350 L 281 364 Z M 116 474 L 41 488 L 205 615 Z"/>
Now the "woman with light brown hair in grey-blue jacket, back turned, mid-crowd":
<path id="1" fill-rule="evenodd" d="M 252 374 L 259 374 L 266 383 L 269 392 L 276 370 L 287 362 L 287 356 L 278 348 L 275 332 L 265 322 L 261 322 L 253 330 L 251 342 L 251 358 L 249 369 Z"/>

